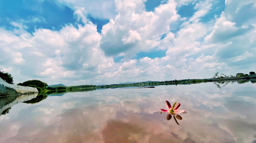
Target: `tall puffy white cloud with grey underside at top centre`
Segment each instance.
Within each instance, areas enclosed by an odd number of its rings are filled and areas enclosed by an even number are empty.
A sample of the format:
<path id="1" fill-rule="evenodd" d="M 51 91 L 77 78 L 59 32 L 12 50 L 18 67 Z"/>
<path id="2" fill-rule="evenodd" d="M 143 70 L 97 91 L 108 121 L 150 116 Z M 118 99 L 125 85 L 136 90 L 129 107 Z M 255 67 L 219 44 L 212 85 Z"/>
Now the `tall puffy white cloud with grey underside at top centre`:
<path id="1" fill-rule="evenodd" d="M 116 7 L 118 15 L 102 28 L 101 49 L 109 56 L 124 53 L 125 59 L 157 47 L 169 24 L 179 18 L 174 1 L 154 12 L 146 12 L 143 1 L 116 1 Z"/>

